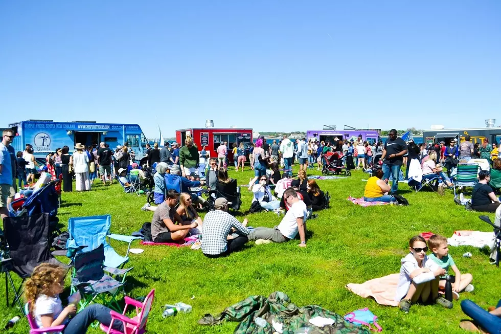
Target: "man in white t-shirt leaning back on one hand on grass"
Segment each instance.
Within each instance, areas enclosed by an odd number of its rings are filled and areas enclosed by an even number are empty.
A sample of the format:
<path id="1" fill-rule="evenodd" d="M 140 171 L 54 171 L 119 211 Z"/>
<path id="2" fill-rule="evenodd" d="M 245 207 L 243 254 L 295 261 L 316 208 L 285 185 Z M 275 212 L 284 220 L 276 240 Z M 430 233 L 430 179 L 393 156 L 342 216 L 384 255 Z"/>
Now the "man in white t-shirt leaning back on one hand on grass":
<path id="1" fill-rule="evenodd" d="M 305 220 L 307 208 L 298 193 L 293 188 L 287 188 L 283 194 L 285 203 L 290 207 L 278 226 L 274 228 L 258 227 L 250 232 L 249 240 L 256 240 L 256 244 L 286 242 L 294 239 L 299 232 L 301 243 L 299 247 L 306 247 Z"/>

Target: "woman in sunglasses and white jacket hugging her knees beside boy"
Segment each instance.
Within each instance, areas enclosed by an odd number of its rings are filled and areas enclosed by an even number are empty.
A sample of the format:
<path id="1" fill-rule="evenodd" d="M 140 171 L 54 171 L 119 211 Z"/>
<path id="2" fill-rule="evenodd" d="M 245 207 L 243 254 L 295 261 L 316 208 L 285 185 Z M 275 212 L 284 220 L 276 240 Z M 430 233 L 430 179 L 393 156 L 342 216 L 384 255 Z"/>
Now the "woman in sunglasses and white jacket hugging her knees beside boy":
<path id="1" fill-rule="evenodd" d="M 400 278 L 397 286 L 395 300 L 398 307 L 409 313 L 411 305 L 417 302 L 437 303 L 445 308 L 452 308 L 452 303 L 439 297 L 438 288 L 440 276 L 445 275 L 445 270 L 426 255 L 428 247 L 420 235 L 409 240 L 409 251 L 401 260 Z"/>

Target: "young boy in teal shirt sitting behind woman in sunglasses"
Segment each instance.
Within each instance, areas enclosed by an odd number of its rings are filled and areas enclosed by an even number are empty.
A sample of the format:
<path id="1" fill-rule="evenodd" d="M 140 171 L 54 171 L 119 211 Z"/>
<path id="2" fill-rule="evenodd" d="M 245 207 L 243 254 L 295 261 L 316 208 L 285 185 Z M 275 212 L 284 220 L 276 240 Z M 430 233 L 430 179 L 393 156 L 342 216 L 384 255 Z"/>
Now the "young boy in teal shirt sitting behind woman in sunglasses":
<path id="1" fill-rule="evenodd" d="M 456 276 L 450 277 L 454 299 L 457 300 L 459 298 L 459 292 L 473 291 L 473 285 L 470 284 L 473 280 L 473 276 L 471 276 L 471 274 L 461 275 L 454 260 L 452 260 L 452 257 L 449 255 L 447 239 L 445 237 L 438 234 L 432 235 L 428 239 L 428 248 L 433 252 L 433 254 L 430 254 L 429 258 L 445 270 L 445 275 L 448 275 L 449 266 L 454 271 L 454 274 L 456 274 Z M 440 277 L 439 288 L 440 290 L 445 290 L 445 276 Z"/>

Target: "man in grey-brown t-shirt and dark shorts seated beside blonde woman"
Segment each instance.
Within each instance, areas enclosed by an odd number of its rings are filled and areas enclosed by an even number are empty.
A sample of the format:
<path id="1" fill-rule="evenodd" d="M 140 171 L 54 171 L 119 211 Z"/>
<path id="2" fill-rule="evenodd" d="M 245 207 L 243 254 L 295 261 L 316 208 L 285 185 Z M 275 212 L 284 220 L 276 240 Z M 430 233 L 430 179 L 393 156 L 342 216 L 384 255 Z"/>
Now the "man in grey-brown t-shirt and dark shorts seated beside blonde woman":
<path id="1" fill-rule="evenodd" d="M 190 229 L 198 227 L 196 221 L 183 221 L 177 213 L 175 206 L 179 193 L 169 190 L 165 195 L 165 201 L 156 207 L 151 220 L 151 237 L 153 242 L 176 242 L 184 243 Z M 175 224 L 177 222 L 178 224 Z"/>

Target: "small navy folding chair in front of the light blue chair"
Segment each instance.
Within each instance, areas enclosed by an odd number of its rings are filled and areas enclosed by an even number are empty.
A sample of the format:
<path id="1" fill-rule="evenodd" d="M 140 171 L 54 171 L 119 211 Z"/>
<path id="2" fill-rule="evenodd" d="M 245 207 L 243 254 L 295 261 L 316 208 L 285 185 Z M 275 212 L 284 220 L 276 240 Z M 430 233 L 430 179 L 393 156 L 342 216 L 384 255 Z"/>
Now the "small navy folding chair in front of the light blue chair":
<path id="1" fill-rule="evenodd" d="M 80 292 L 81 299 L 79 309 L 85 308 L 90 303 L 98 299 L 103 305 L 115 309 L 120 312 L 120 305 L 117 297 L 120 293 L 125 295 L 124 280 L 121 282 L 112 278 L 104 272 L 113 275 L 123 275 L 132 270 L 109 268 L 104 265 L 104 245 L 101 244 L 98 248 L 80 253 L 77 252 L 73 257 L 73 275 L 71 291 Z"/>

